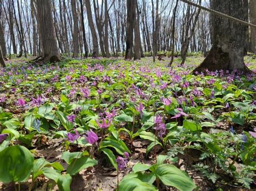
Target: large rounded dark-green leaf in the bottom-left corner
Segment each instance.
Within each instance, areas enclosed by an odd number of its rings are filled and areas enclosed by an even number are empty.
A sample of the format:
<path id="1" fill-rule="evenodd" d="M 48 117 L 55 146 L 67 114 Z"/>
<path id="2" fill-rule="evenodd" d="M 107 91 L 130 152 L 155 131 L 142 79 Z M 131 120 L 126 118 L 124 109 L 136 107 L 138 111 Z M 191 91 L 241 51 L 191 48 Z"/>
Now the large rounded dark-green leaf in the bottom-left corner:
<path id="1" fill-rule="evenodd" d="M 0 152 L 0 181 L 24 182 L 29 179 L 34 157 L 24 146 L 9 146 Z"/>

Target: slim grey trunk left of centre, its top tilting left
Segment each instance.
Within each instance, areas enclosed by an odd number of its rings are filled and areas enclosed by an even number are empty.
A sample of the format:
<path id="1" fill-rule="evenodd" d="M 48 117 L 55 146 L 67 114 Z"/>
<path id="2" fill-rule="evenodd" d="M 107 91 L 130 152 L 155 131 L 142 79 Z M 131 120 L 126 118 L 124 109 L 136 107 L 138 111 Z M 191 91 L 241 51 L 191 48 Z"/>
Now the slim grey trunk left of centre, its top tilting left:
<path id="1" fill-rule="evenodd" d="M 96 33 L 96 30 L 95 30 L 95 26 L 93 24 L 92 10 L 91 10 L 90 1 L 85 1 L 85 6 L 86 6 L 86 11 L 87 11 L 87 18 L 88 18 L 89 27 L 90 27 L 90 30 L 91 30 L 91 33 L 92 33 L 93 57 L 98 57 L 98 55 L 99 55 L 99 45 L 98 45 L 97 33 Z"/>

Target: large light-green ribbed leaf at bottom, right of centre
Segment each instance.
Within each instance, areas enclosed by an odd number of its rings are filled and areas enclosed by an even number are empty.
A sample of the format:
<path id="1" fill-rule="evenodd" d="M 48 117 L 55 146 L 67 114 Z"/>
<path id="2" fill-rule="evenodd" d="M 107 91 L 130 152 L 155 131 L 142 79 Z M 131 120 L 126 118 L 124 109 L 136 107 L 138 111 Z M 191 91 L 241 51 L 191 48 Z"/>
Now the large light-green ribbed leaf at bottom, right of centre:
<path id="1" fill-rule="evenodd" d="M 196 188 L 190 176 L 174 165 L 159 165 L 156 169 L 156 175 L 166 186 L 173 186 L 184 191 Z"/>

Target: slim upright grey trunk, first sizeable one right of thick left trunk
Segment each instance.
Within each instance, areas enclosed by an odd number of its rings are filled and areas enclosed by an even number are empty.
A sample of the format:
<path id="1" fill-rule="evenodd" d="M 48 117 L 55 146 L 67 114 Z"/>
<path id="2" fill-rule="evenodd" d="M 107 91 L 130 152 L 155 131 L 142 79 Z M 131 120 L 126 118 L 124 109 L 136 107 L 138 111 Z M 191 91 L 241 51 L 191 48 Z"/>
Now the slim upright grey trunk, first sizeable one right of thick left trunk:
<path id="1" fill-rule="evenodd" d="M 78 58 L 79 42 L 78 42 L 78 17 L 76 0 L 71 0 L 72 16 L 73 16 L 73 58 Z"/>

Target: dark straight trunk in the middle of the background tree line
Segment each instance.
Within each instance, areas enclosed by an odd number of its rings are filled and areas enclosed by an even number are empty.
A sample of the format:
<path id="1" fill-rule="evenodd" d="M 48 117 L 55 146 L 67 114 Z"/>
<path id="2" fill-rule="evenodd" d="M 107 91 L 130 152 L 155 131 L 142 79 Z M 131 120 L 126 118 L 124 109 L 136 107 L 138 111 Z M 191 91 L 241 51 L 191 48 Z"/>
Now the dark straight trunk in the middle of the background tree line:
<path id="1" fill-rule="evenodd" d="M 135 0 L 127 0 L 126 52 L 125 59 L 132 59 Z"/>

